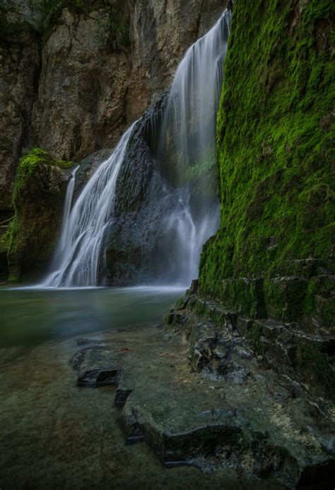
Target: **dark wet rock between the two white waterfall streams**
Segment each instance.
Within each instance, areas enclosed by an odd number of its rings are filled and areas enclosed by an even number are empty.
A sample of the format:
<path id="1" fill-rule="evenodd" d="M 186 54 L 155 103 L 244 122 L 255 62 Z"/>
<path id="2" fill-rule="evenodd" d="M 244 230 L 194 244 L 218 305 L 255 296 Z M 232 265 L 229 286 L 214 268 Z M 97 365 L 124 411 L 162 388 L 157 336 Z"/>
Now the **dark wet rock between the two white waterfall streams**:
<path id="1" fill-rule="evenodd" d="M 167 232 L 166 215 L 177 208 L 177 190 L 169 188 L 153 156 L 154 128 L 159 127 L 167 94 L 136 123 L 117 179 L 113 220 L 107 228 L 103 280 L 127 285 L 155 280 L 160 239 Z M 134 178 L 136 176 L 136 178 Z M 170 273 L 173 273 L 171 260 Z"/>

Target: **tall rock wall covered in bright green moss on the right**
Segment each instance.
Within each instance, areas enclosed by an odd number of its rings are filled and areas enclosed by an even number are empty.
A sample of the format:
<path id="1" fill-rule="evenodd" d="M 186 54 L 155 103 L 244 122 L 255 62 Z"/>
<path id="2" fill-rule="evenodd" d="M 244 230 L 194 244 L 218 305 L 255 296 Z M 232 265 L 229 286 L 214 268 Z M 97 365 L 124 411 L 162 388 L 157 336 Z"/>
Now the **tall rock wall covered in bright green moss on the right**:
<path id="1" fill-rule="evenodd" d="M 218 111 L 221 227 L 199 273 L 201 292 L 232 307 L 239 278 L 263 278 L 268 314 L 295 320 L 320 274 L 305 275 L 302 259 L 334 273 L 333 21 L 328 0 L 234 3 Z M 306 283 L 271 283 L 281 275 Z M 298 291 L 299 312 L 283 318 L 276 301 Z"/>

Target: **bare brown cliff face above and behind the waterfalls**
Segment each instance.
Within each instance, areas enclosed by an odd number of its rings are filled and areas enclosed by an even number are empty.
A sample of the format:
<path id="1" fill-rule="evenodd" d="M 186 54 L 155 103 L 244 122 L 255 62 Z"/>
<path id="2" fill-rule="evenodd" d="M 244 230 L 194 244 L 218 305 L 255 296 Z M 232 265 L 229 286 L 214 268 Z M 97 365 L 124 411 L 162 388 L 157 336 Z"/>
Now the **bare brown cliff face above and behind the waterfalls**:
<path id="1" fill-rule="evenodd" d="M 225 2 L 6 0 L 0 36 L 0 211 L 23 148 L 80 161 L 111 148 L 170 84 Z M 52 15 L 50 15 L 52 14 Z"/>

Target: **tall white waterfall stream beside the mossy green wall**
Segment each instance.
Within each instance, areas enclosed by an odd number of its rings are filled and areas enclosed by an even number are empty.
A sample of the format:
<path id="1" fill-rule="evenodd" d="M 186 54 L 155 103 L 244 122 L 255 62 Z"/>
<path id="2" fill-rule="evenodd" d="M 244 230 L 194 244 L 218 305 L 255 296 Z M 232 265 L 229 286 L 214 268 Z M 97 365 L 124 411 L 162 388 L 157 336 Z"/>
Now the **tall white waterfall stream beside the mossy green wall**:
<path id="1" fill-rule="evenodd" d="M 156 155 L 166 180 L 180 189 L 179 207 L 166 217 L 167 234 L 161 248 L 174 257 L 170 279 L 186 285 L 197 277 L 201 248 L 216 232 L 220 218 L 216 115 L 230 18 L 226 10 L 182 59 L 172 82 Z M 192 176 L 197 176 L 197 182 L 192 182 Z M 166 275 L 165 265 L 161 276 Z"/>

